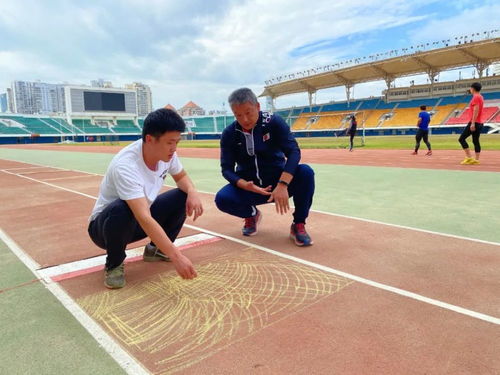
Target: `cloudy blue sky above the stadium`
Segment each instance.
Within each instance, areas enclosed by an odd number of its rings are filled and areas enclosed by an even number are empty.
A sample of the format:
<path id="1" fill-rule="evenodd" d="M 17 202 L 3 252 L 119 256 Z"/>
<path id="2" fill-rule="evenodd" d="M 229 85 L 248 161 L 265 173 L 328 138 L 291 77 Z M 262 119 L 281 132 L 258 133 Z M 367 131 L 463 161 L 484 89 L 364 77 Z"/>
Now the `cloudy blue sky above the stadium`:
<path id="1" fill-rule="evenodd" d="M 103 78 L 148 84 L 154 107 L 222 109 L 241 86 L 260 94 L 283 73 L 498 29 L 499 20 L 493 0 L 0 0 L 0 93 L 13 80 Z M 354 96 L 384 85 L 356 86 Z M 316 98 L 341 99 L 340 88 Z M 306 102 L 301 94 L 276 104 Z"/>

